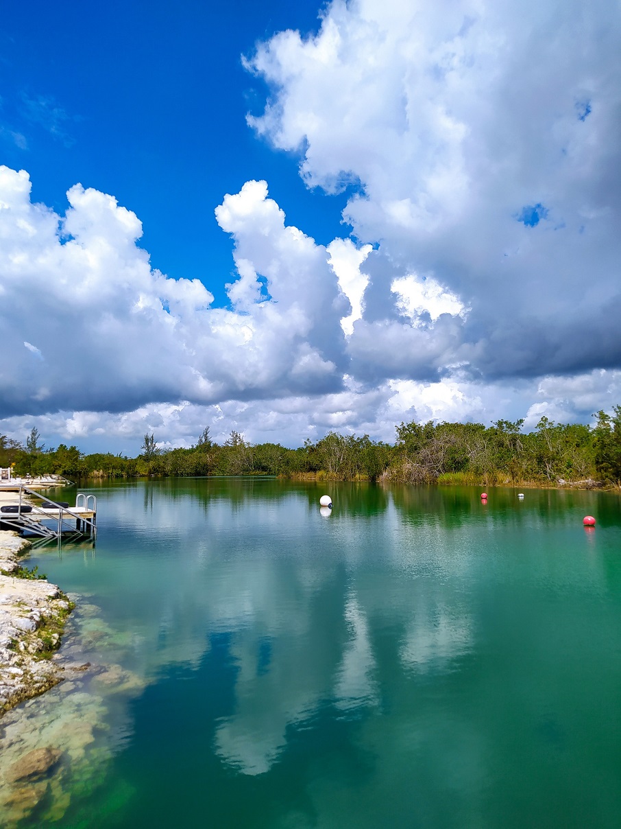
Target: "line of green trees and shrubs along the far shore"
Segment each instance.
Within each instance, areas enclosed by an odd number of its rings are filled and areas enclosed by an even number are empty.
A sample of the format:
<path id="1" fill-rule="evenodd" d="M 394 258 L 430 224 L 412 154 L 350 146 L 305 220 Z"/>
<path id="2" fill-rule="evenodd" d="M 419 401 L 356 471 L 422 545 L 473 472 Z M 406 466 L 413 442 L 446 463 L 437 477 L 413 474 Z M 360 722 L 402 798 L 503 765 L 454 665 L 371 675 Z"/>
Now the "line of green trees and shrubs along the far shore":
<path id="1" fill-rule="evenodd" d="M 594 426 L 543 417 L 531 432 L 522 431 L 523 419 L 490 426 L 412 421 L 396 427 L 394 444 L 368 434 L 329 432 L 293 449 L 251 444 L 234 430 L 224 444 L 217 444 L 206 428 L 190 448 L 161 448 L 154 434 L 146 434 L 136 458 L 84 454 L 65 444 L 46 448 L 32 429 L 24 444 L 0 435 L 0 467 L 13 465 L 16 475 L 54 473 L 71 480 L 262 474 L 342 481 L 621 486 L 621 406 L 595 417 Z"/>

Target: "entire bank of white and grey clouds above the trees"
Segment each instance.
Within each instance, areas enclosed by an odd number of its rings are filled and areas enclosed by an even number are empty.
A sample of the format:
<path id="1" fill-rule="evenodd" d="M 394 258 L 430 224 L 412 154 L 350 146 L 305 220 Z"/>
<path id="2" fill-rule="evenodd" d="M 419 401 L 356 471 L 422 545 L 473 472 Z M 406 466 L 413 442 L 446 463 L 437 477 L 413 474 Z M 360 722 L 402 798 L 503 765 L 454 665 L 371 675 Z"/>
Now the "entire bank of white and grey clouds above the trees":
<path id="1" fill-rule="evenodd" d="M 353 232 L 316 245 L 247 182 L 216 210 L 229 308 L 152 269 L 112 196 L 58 216 L 3 167 L 0 426 L 296 443 L 619 402 L 620 40 L 614 2 L 363 0 L 261 44 L 248 121 L 310 186 L 354 182 Z"/>

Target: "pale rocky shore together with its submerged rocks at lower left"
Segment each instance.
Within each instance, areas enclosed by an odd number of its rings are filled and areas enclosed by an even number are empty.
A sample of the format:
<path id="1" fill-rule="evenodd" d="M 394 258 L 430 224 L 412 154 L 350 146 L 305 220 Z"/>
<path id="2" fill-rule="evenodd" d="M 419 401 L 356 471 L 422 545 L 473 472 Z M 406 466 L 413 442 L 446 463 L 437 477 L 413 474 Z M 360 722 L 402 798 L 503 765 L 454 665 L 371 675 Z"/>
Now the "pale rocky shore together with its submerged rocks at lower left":
<path id="1" fill-rule="evenodd" d="M 111 628 L 89 594 L 17 577 L 29 548 L 0 531 L 0 827 L 55 825 L 70 807 L 86 826 L 128 732 L 128 701 L 147 681 L 120 664 L 132 632 Z"/>

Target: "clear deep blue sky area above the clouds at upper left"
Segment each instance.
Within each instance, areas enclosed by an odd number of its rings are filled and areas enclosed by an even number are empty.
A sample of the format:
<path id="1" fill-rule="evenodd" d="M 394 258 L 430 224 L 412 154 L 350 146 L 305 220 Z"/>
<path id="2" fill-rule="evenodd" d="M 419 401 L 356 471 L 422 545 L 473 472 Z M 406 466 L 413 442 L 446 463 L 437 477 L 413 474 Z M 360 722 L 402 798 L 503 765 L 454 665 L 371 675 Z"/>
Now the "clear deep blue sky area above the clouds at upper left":
<path id="1" fill-rule="evenodd" d="M 75 182 L 113 193 L 143 223 L 141 245 L 172 277 L 227 302 L 230 241 L 214 207 L 264 178 L 293 224 L 327 244 L 344 195 L 326 198 L 246 125 L 262 81 L 243 69 L 255 42 L 316 32 L 316 2 L 2 2 L 2 162 L 26 167 L 32 197 L 64 212 Z M 24 147 L 24 144 L 26 145 Z"/>

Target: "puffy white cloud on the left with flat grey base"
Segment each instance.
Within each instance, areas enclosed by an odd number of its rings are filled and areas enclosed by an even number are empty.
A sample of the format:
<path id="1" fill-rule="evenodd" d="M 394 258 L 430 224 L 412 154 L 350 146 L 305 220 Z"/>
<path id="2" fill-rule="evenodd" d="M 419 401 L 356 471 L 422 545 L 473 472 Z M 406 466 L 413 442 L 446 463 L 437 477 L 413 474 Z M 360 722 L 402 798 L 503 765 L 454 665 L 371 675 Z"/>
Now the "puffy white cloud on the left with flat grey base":
<path id="1" fill-rule="evenodd" d="M 286 228 L 264 183 L 221 211 L 239 268 L 232 309 L 212 308 L 197 280 L 153 270 L 140 222 L 113 197 L 73 187 L 61 217 L 29 192 L 26 173 L 0 168 L 0 416 L 342 388 L 349 301 L 325 248 Z"/>

